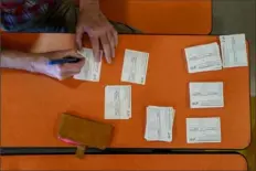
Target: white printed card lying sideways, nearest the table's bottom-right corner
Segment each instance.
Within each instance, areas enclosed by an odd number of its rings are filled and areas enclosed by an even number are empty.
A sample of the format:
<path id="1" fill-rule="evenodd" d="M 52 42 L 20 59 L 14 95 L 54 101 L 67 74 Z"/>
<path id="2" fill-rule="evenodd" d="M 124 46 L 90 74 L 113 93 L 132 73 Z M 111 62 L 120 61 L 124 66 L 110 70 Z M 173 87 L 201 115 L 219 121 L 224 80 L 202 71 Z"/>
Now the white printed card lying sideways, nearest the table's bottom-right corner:
<path id="1" fill-rule="evenodd" d="M 221 142 L 221 119 L 215 118 L 186 118 L 186 142 Z"/>

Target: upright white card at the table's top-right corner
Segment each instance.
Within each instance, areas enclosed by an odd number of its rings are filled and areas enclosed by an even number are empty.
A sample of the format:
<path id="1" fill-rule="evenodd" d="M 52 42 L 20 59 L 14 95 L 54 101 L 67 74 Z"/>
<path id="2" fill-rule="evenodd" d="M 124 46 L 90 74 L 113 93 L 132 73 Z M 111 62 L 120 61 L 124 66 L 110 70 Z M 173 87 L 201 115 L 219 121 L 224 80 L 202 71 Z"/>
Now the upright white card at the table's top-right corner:
<path id="1" fill-rule="evenodd" d="M 248 66 L 245 34 L 221 35 L 223 67 Z"/>

